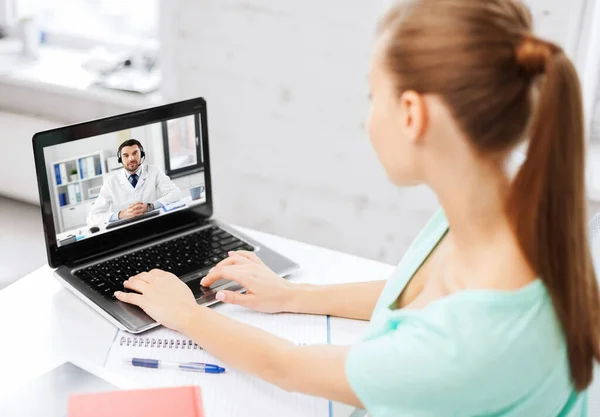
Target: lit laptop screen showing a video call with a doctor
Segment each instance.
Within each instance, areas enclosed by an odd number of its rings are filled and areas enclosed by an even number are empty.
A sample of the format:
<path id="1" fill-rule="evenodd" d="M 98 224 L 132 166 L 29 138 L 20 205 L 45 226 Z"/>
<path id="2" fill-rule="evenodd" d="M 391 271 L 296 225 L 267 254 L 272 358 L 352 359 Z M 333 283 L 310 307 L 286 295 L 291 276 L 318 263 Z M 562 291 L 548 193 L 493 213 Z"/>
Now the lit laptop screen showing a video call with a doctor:
<path id="1" fill-rule="evenodd" d="M 200 114 L 43 148 L 57 247 L 206 202 Z"/>

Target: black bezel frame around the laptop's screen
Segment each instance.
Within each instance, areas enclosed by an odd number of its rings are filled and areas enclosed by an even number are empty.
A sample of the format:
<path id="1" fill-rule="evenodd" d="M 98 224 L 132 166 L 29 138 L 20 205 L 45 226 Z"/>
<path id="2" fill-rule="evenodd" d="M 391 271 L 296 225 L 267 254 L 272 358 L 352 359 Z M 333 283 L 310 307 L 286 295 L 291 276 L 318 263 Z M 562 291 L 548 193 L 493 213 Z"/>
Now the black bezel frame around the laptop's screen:
<path id="1" fill-rule="evenodd" d="M 44 148 L 195 114 L 200 115 L 201 121 L 202 140 L 200 142 L 204 156 L 206 203 L 171 213 L 168 216 L 159 216 L 149 221 L 133 223 L 127 227 L 69 245 L 61 247 L 57 245 Z M 140 243 L 156 239 L 176 230 L 205 223 L 213 214 L 207 105 L 203 98 L 195 98 L 38 132 L 33 136 L 32 142 L 48 264 L 52 268 L 58 268 L 62 265 L 74 266 L 83 260 L 135 247 Z M 151 233 L 148 233 L 148 227 L 151 227 Z"/>

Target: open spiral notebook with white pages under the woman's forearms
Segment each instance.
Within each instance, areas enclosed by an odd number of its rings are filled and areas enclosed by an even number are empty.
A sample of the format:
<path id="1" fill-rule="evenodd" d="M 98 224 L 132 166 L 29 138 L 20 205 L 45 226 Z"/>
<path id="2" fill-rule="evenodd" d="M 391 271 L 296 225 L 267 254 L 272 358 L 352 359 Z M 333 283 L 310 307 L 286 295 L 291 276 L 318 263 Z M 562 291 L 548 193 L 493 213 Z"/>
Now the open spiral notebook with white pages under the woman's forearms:
<path id="1" fill-rule="evenodd" d="M 218 311 L 298 345 L 328 342 L 327 318 L 323 316 L 262 314 L 231 305 L 221 305 Z M 240 349 L 243 348 L 240 346 Z M 123 359 L 131 357 L 214 363 L 225 367 L 227 372 L 213 375 L 171 369 L 138 368 L 124 362 Z M 141 335 L 119 331 L 108 354 L 106 367 L 131 379 L 141 388 L 199 385 L 202 388 L 205 415 L 208 417 L 330 415 L 329 401 L 289 393 L 238 372 L 180 333 L 164 327 Z"/>

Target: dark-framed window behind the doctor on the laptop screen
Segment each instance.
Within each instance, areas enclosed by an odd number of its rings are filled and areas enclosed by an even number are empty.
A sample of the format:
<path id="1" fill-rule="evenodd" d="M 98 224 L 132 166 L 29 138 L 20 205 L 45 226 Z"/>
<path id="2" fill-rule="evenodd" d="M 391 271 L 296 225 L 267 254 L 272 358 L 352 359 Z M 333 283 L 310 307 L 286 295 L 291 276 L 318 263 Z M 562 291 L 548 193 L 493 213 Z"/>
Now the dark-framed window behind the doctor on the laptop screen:
<path id="1" fill-rule="evenodd" d="M 165 168 L 170 177 L 189 175 L 204 167 L 200 150 L 200 118 L 188 116 L 162 123 Z"/>

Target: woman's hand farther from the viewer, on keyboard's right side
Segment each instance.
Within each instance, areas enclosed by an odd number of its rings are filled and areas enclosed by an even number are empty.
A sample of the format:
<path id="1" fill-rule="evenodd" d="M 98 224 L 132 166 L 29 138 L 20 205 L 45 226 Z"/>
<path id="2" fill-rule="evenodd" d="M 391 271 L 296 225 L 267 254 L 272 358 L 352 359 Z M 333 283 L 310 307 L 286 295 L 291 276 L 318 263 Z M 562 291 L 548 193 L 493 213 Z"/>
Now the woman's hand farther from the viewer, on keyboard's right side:
<path id="1" fill-rule="evenodd" d="M 246 294 L 222 290 L 217 299 L 264 313 L 286 311 L 293 293 L 293 285 L 271 271 L 254 252 L 230 252 L 204 277 L 201 284 L 210 287 L 214 282 L 226 279 L 235 281 L 246 289 Z"/>

